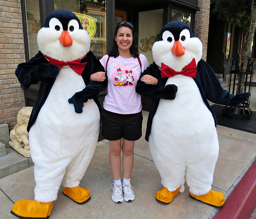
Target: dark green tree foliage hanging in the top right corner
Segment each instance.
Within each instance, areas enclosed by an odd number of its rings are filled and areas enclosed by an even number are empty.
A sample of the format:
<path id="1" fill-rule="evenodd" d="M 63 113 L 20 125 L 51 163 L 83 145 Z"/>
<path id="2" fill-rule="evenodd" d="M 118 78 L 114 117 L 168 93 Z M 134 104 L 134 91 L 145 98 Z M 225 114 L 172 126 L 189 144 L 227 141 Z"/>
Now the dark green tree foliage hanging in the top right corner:
<path id="1" fill-rule="evenodd" d="M 250 0 L 215 0 L 212 13 L 217 14 L 219 19 L 248 30 L 250 4 Z"/>

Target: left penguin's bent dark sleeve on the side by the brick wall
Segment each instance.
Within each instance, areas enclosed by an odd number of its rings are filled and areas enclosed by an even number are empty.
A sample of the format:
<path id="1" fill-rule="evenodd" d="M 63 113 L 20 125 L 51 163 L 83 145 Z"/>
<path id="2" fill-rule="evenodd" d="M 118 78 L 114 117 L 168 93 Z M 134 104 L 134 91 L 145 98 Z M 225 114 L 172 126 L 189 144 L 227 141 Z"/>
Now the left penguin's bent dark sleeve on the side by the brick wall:
<path id="1" fill-rule="evenodd" d="M 20 84 L 28 89 L 31 84 L 38 81 L 55 79 L 59 73 L 59 68 L 55 64 L 49 64 L 49 61 L 38 52 L 28 62 L 20 63 L 17 66 L 15 75 Z"/>

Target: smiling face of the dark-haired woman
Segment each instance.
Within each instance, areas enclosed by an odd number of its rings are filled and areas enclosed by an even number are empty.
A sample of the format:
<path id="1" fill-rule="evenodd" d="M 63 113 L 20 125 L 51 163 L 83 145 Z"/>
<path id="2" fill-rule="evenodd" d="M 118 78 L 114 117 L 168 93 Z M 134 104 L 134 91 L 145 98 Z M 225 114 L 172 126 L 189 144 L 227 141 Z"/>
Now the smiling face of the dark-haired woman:
<path id="1" fill-rule="evenodd" d="M 133 44 L 132 30 L 127 27 L 120 27 L 117 31 L 115 39 L 119 51 L 130 51 L 130 47 Z"/>

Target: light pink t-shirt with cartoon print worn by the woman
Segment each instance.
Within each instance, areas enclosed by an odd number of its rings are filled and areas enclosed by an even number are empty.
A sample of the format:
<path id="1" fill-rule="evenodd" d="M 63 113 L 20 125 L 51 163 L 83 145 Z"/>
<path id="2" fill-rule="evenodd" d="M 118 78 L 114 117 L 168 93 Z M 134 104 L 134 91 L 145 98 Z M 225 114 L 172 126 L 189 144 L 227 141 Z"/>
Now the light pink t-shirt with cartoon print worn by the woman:
<path id="1" fill-rule="evenodd" d="M 108 57 L 104 55 L 100 59 L 105 70 Z M 143 72 L 148 67 L 148 62 L 143 54 L 139 57 Z M 108 94 L 103 102 L 105 110 L 118 114 L 134 114 L 141 111 L 141 96 L 135 91 L 141 69 L 137 58 L 110 57 L 107 66 Z"/>

